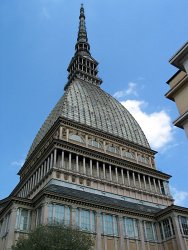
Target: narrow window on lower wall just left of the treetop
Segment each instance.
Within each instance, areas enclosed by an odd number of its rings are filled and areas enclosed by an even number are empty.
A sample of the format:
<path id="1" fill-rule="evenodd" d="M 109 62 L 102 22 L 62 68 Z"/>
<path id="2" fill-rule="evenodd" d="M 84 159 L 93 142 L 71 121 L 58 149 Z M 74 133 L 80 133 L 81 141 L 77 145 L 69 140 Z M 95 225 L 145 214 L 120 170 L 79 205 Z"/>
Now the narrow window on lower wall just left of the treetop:
<path id="1" fill-rule="evenodd" d="M 16 229 L 28 231 L 30 227 L 30 210 L 18 208 L 16 215 Z"/>

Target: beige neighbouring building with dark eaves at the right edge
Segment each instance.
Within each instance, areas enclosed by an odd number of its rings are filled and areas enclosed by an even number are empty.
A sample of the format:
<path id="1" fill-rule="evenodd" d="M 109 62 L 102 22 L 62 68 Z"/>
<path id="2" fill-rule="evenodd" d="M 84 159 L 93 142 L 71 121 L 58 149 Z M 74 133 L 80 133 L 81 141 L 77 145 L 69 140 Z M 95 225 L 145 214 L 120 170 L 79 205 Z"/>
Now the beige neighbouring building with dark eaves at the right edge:
<path id="1" fill-rule="evenodd" d="M 188 136 L 188 42 L 169 62 L 177 67 L 178 71 L 167 81 L 170 90 L 165 96 L 176 103 L 179 111 L 174 125 L 184 129 Z"/>

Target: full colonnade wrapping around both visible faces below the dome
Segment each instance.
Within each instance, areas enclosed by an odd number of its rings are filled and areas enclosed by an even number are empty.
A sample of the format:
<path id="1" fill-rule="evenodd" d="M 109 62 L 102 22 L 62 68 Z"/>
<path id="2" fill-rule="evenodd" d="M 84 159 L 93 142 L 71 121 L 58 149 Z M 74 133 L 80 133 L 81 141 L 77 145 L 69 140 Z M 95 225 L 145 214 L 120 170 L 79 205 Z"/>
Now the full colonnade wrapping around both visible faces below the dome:
<path id="1" fill-rule="evenodd" d="M 59 149 L 54 149 L 28 178 L 19 196 L 26 197 L 52 168 L 170 196 L 168 183 L 165 180 Z"/>

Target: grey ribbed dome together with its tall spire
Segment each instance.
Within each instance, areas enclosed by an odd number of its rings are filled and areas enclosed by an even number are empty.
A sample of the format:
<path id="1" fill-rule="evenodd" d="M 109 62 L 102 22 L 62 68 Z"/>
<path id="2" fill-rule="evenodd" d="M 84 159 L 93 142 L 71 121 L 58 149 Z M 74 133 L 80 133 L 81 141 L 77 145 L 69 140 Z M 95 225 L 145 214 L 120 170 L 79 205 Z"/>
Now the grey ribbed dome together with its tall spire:
<path id="1" fill-rule="evenodd" d="M 75 54 L 67 69 L 69 75 L 65 93 L 36 135 L 28 156 L 59 117 L 150 149 L 134 117 L 121 103 L 100 88 L 102 80 L 98 77 L 98 62 L 90 53 L 83 6 L 79 20 Z"/>

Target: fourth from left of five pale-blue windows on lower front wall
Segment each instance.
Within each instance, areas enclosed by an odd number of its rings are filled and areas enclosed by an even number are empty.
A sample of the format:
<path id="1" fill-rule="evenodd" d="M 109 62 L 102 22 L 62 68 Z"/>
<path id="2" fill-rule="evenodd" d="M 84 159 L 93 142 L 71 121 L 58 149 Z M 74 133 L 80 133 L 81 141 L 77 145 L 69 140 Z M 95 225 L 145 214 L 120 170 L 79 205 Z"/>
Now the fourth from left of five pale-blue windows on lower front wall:
<path id="1" fill-rule="evenodd" d="M 124 218 L 124 235 L 128 238 L 138 238 L 138 220 Z"/>

